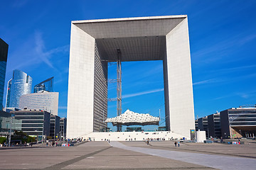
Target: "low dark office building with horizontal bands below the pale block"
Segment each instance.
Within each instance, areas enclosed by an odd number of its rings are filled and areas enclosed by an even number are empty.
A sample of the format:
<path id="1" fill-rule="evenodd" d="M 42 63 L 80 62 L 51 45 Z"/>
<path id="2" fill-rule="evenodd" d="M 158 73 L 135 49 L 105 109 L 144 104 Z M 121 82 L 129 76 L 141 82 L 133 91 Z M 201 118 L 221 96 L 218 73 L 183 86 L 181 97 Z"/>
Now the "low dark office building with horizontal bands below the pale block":
<path id="1" fill-rule="evenodd" d="M 11 111 L 15 119 L 21 120 L 21 130 L 27 135 L 50 135 L 50 113 L 46 111 Z"/>

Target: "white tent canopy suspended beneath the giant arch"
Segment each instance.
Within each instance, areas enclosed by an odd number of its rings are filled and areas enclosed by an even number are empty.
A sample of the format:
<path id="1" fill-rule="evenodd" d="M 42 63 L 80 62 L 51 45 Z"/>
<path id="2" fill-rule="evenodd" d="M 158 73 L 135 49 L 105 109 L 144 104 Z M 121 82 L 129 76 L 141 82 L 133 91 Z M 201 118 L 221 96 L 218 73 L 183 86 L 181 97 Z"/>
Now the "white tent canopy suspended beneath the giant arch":
<path id="1" fill-rule="evenodd" d="M 125 111 L 121 115 L 114 118 L 107 118 L 105 123 L 112 125 L 159 125 L 160 118 L 149 114 L 134 113 L 133 111 Z"/>

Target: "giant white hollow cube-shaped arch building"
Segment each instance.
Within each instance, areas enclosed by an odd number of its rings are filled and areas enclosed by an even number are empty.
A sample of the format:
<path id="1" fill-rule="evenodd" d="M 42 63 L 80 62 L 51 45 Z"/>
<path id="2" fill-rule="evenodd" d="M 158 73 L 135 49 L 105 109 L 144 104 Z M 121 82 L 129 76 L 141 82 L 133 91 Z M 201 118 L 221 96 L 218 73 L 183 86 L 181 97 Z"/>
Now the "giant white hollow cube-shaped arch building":
<path id="1" fill-rule="evenodd" d="M 72 21 L 67 137 L 107 128 L 107 64 L 161 60 L 166 130 L 191 138 L 195 129 L 187 16 Z"/>

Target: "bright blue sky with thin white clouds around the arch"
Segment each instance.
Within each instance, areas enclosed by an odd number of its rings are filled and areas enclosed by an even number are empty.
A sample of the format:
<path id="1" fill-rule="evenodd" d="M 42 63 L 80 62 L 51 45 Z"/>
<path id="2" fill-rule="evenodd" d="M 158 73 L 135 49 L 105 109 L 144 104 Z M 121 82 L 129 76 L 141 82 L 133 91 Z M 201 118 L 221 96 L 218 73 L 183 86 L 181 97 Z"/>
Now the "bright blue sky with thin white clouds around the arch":
<path id="1" fill-rule="evenodd" d="M 14 69 L 33 77 L 33 85 L 54 76 L 65 117 L 71 21 L 186 14 L 195 115 L 255 104 L 255 8 L 256 1 L 1 1 L 0 37 L 9 44 L 6 82 Z M 161 62 L 124 62 L 122 68 L 123 110 L 158 116 L 161 109 L 163 116 Z M 110 84 L 110 98 L 114 88 Z M 110 117 L 115 104 L 109 103 Z"/>

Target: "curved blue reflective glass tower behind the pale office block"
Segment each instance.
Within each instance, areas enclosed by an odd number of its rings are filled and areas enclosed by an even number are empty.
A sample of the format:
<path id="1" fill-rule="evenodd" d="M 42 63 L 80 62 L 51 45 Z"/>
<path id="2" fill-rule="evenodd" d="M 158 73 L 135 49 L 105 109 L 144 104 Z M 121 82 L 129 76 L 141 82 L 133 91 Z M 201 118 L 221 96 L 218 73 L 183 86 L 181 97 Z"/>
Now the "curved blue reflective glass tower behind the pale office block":
<path id="1" fill-rule="evenodd" d="M 24 94 L 31 94 L 31 88 L 32 78 L 28 76 L 28 74 L 18 69 L 15 69 L 13 79 L 11 80 L 9 108 L 18 108 L 20 97 Z M 8 99 L 8 97 L 6 99 Z M 8 102 L 6 101 L 6 103 Z"/>

